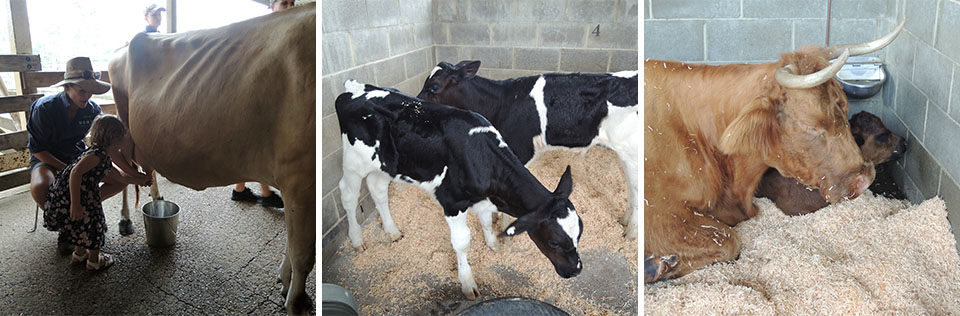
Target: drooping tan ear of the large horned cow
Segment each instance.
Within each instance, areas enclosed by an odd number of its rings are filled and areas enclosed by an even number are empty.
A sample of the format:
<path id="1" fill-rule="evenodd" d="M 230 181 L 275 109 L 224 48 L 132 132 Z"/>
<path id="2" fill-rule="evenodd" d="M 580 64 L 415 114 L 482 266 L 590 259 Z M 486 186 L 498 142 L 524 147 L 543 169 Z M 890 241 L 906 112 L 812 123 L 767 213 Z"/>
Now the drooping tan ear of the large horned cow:
<path id="1" fill-rule="evenodd" d="M 780 139 L 777 111 L 766 99 L 747 106 L 723 131 L 720 151 L 736 153 L 770 153 Z"/>

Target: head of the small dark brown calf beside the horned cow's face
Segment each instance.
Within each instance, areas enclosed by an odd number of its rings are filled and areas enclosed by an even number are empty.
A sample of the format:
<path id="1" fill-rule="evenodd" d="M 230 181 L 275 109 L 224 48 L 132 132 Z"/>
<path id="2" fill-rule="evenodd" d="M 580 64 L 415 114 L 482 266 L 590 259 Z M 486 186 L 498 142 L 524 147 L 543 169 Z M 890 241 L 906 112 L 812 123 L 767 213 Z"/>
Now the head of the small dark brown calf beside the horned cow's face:
<path id="1" fill-rule="evenodd" d="M 850 132 L 860 146 L 863 159 L 875 165 L 899 160 L 907 150 L 907 142 L 902 137 L 890 132 L 879 117 L 868 112 L 850 118 Z"/>

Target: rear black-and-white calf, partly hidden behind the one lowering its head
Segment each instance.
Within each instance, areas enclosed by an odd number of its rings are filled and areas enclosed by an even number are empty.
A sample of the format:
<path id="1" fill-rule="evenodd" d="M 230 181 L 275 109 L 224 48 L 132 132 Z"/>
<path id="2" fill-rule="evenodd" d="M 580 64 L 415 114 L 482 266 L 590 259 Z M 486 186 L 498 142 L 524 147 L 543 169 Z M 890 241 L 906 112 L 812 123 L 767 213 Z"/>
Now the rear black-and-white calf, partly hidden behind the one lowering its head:
<path id="1" fill-rule="evenodd" d="M 417 97 L 483 115 L 524 164 L 547 150 L 586 151 L 593 145 L 612 149 L 623 165 L 629 195 L 620 222 L 627 226 L 627 239 L 637 238 L 638 72 L 544 74 L 497 81 L 477 76 L 479 68 L 479 61 L 456 66 L 441 62 Z"/>

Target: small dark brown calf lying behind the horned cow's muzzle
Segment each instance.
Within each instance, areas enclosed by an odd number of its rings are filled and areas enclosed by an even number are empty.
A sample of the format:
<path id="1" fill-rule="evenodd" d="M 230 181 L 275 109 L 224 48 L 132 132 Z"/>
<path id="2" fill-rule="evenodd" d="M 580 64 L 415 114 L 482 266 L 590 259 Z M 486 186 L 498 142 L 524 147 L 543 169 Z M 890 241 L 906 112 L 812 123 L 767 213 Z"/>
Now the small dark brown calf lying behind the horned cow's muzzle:
<path id="1" fill-rule="evenodd" d="M 870 191 L 890 198 L 903 199 L 903 193 L 892 182 L 888 164 L 894 163 L 906 151 L 906 142 L 897 134 L 891 133 L 879 117 L 860 112 L 850 118 L 850 132 L 860 146 L 863 159 L 876 166 L 877 177 L 870 184 Z M 892 187 L 891 187 L 892 186 Z M 795 179 L 780 175 L 777 169 L 770 168 L 757 188 L 757 196 L 769 198 L 787 215 L 803 215 L 827 206 L 820 190 L 808 188 Z"/>

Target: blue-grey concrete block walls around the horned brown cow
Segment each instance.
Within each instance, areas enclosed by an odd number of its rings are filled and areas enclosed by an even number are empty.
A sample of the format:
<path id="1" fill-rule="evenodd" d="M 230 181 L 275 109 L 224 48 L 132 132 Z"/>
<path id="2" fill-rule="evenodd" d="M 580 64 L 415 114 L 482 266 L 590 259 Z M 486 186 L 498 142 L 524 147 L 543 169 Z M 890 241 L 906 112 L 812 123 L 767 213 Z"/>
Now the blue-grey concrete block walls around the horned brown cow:
<path id="1" fill-rule="evenodd" d="M 644 58 L 707 64 L 775 61 L 804 45 L 825 44 L 827 3 L 644 0 Z M 953 230 L 960 232 L 960 146 L 951 142 L 960 136 L 960 1 L 833 0 L 830 44 L 878 38 L 904 14 L 903 33 L 872 54 L 887 67 L 882 93 L 851 99 L 850 114 L 873 113 L 907 138 L 895 179 L 914 203 L 943 197 Z"/>

